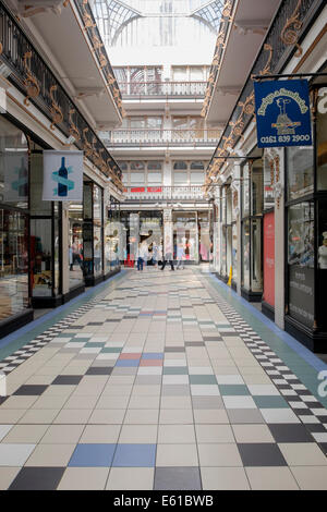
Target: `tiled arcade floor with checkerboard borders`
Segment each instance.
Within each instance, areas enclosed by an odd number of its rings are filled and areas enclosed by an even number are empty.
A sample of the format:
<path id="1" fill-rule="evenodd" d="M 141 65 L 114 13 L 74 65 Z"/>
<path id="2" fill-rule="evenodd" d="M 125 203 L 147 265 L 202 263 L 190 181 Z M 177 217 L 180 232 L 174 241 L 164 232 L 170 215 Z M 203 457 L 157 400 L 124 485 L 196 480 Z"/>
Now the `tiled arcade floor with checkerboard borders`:
<path id="1" fill-rule="evenodd" d="M 0 369 L 0 489 L 327 488 L 327 411 L 195 269 L 130 271 Z"/>

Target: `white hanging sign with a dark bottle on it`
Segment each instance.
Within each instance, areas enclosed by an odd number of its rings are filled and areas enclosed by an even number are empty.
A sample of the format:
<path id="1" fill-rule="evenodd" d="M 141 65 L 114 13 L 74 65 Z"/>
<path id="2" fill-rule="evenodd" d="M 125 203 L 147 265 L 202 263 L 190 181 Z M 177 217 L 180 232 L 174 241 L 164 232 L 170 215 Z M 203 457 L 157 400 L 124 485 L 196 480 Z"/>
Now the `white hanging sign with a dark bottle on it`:
<path id="1" fill-rule="evenodd" d="M 83 200 L 83 151 L 44 151 L 44 200 Z"/>

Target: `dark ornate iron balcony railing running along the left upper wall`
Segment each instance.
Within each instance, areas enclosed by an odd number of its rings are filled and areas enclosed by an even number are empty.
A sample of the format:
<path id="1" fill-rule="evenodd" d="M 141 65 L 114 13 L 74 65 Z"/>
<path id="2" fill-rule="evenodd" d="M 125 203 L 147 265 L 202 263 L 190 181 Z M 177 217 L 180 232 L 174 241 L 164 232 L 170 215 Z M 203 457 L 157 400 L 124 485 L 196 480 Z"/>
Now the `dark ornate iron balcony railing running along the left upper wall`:
<path id="1" fill-rule="evenodd" d="M 50 68 L 34 48 L 16 20 L 0 3 L 0 63 L 8 70 L 7 80 L 32 101 L 75 146 L 106 175 L 121 187 L 121 170 L 104 143 L 73 103 Z"/>

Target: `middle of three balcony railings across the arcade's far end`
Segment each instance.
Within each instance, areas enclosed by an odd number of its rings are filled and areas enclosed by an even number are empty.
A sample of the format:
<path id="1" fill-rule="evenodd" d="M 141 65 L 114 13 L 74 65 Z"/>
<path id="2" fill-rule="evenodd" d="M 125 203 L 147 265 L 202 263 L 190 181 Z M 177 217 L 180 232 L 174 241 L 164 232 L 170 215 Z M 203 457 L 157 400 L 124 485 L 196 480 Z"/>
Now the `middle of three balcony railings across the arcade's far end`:
<path id="1" fill-rule="evenodd" d="M 219 130 L 114 130 L 101 134 L 108 147 L 125 146 L 215 146 Z"/>

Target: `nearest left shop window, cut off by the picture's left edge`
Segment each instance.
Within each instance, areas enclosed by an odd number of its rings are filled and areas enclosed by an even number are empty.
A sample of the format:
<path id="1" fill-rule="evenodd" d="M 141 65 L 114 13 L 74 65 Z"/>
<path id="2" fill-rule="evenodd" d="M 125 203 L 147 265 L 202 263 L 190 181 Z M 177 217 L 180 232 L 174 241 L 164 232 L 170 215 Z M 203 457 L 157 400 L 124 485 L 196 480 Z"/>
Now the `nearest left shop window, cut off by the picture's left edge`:
<path id="1" fill-rule="evenodd" d="M 28 293 L 28 144 L 0 119 L 0 332 L 33 319 Z"/>

